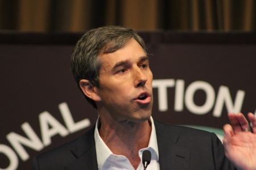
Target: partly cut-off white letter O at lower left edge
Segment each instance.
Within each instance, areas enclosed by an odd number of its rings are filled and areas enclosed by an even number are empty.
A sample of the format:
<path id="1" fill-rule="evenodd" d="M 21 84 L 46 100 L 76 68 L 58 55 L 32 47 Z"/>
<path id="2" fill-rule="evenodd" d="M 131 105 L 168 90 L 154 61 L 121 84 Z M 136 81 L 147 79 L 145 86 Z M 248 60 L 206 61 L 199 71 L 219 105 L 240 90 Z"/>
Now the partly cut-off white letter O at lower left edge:
<path id="1" fill-rule="evenodd" d="M 0 168 L 0 170 L 14 170 L 18 168 L 18 165 L 19 165 L 18 156 L 9 146 L 0 144 L 0 153 L 5 154 L 7 158 L 10 160 L 9 166 L 5 169 Z"/>

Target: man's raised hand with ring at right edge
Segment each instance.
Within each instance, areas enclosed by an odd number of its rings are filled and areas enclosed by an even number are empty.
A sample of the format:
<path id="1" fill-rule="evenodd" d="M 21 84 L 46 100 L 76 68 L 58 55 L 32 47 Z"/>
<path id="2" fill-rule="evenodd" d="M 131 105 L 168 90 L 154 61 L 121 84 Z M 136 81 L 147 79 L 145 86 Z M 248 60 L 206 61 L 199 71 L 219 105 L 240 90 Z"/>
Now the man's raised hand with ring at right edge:
<path id="1" fill-rule="evenodd" d="M 249 122 L 242 113 L 229 113 L 230 125 L 224 125 L 224 148 L 226 157 L 237 169 L 256 169 L 256 117 L 247 114 Z"/>

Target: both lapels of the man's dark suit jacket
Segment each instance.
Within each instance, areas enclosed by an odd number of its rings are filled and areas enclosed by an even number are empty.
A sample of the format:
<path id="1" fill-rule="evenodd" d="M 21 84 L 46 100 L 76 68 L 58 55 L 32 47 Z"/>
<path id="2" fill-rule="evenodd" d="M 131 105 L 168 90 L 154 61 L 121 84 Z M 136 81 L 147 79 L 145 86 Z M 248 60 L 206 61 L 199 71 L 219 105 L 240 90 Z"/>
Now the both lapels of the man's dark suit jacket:
<path id="1" fill-rule="evenodd" d="M 158 141 L 160 169 L 188 169 L 190 150 L 178 145 L 179 133 L 172 130 L 170 125 L 165 125 L 155 120 L 154 124 Z M 76 160 L 68 164 L 65 169 L 98 169 L 94 128 L 80 137 L 76 145 L 71 148 Z"/>

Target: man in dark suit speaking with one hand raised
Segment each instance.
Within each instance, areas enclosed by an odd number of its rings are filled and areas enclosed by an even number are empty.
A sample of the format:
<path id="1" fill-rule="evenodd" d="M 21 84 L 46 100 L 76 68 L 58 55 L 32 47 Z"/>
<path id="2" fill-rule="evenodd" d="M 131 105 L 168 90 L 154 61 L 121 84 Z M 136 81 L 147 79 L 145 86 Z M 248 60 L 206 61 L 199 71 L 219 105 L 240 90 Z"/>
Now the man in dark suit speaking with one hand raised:
<path id="1" fill-rule="evenodd" d="M 256 169 L 256 134 L 243 114 L 229 114 L 225 154 L 215 134 L 172 126 L 151 117 L 152 73 L 146 46 L 133 29 L 101 27 L 81 37 L 71 67 L 85 98 L 97 109 L 96 126 L 33 160 L 32 169 Z M 248 117 L 256 132 L 256 118 Z M 228 160 L 228 159 L 230 160 Z"/>

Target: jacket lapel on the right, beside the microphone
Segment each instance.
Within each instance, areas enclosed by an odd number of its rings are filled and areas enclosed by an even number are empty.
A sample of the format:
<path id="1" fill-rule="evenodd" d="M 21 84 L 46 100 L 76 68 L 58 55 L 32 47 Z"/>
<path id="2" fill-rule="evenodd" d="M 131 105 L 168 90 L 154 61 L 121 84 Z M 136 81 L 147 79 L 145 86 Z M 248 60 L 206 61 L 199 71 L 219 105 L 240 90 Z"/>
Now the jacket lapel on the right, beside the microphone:
<path id="1" fill-rule="evenodd" d="M 190 150 L 179 146 L 179 134 L 165 125 L 154 121 L 158 141 L 160 169 L 188 169 Z"/>

